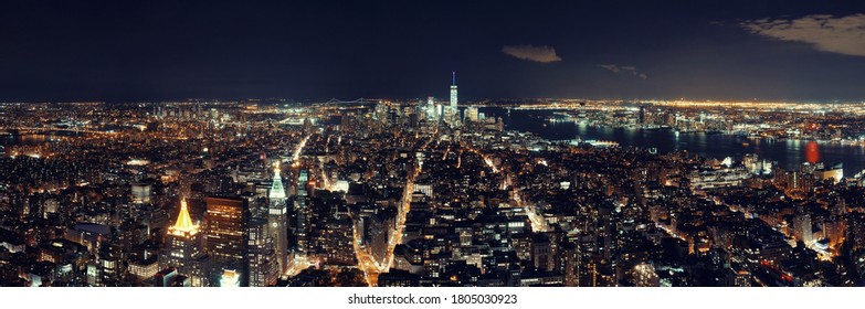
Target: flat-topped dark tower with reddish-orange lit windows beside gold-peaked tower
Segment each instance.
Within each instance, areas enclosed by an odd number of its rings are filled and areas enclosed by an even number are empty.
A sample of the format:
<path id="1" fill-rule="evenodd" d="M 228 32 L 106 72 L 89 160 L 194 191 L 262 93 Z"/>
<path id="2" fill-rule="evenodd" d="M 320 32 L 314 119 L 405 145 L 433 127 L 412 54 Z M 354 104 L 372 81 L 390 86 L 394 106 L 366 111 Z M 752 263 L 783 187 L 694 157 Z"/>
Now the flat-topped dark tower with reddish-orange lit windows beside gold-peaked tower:
<path id="1" fill-rule="evenodd" d="M 231 269 L 239 273 L 242 286 L 246 286 L 246 223 L 250 210 L 246 200 L 232 198 L 204 198 L 208 204 L 208 253 L 213 259 L 213 273 Z"/>

